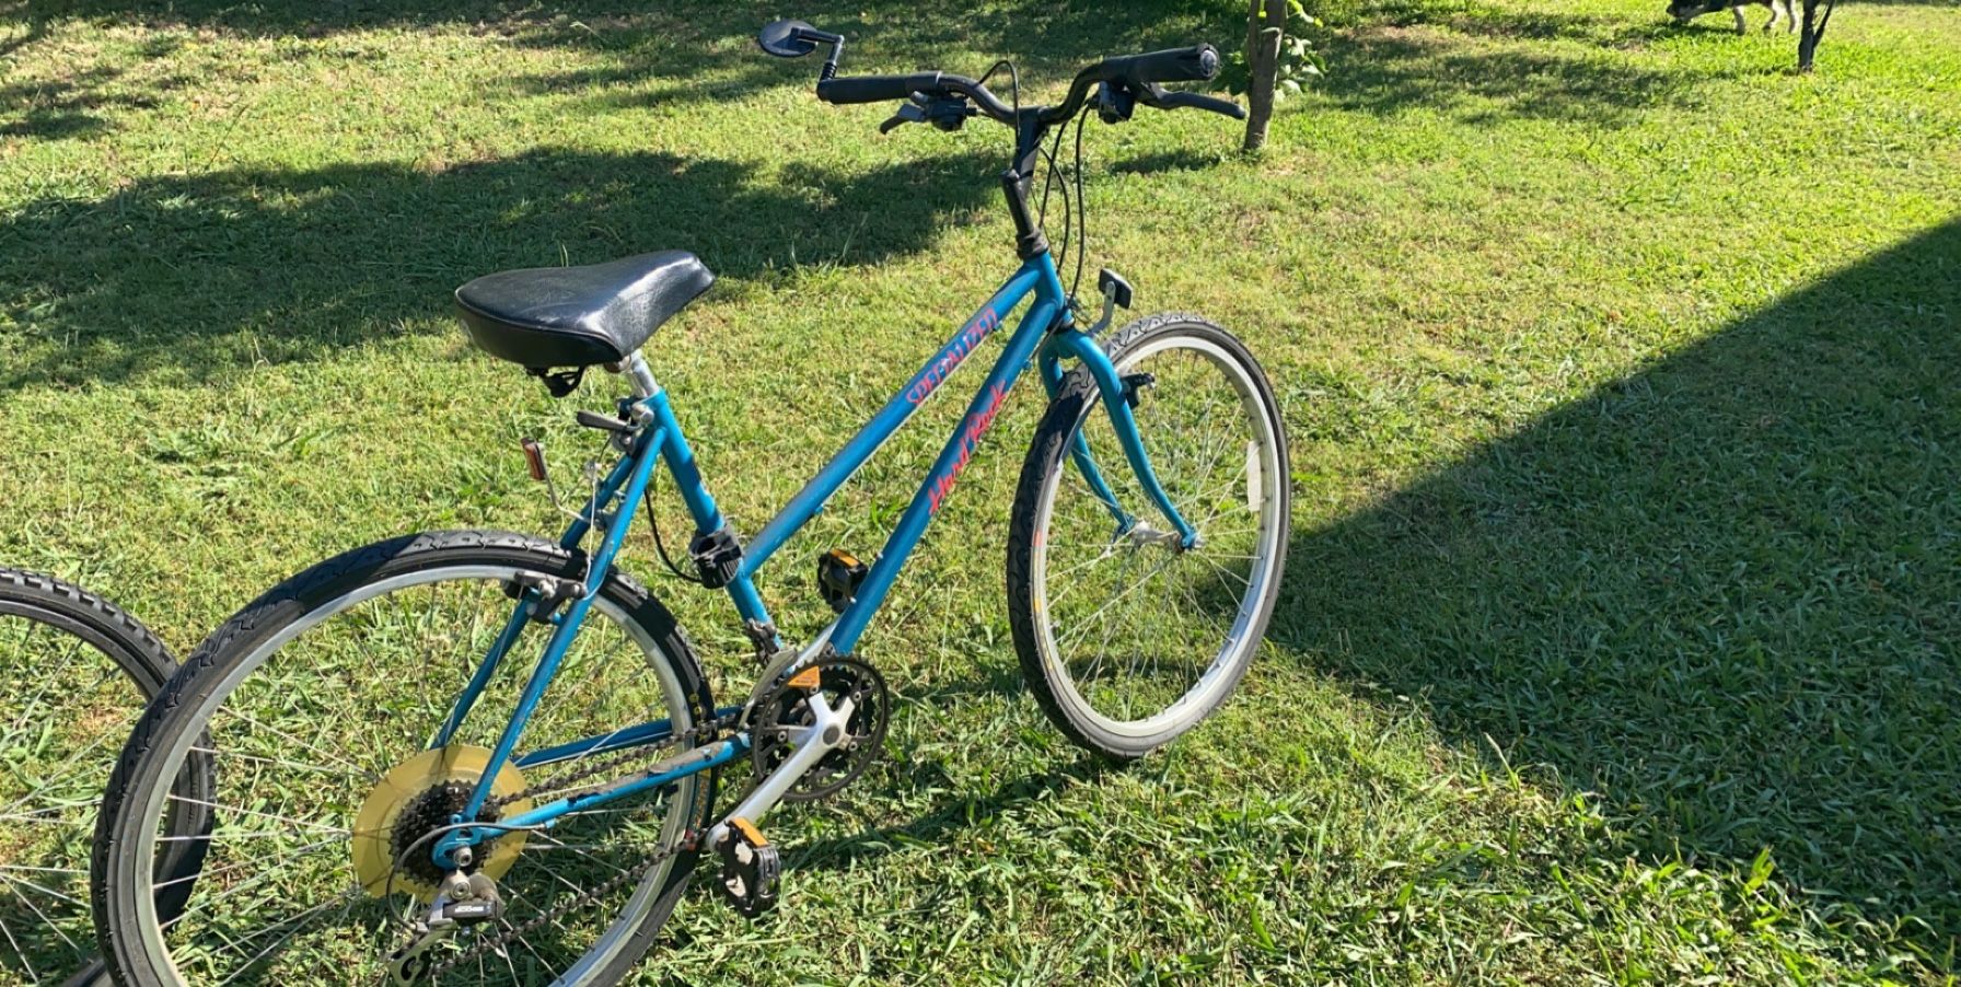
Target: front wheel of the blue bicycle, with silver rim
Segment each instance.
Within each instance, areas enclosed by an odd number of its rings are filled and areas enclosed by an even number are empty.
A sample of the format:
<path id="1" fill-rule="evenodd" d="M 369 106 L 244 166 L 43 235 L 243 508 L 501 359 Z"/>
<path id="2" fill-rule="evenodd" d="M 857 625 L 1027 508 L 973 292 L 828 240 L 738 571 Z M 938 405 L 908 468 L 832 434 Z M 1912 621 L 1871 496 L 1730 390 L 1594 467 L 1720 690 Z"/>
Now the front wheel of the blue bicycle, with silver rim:
<path id="1" fill-rule="evenodd" d="M 1196 726 L 1245 675 L 1281 591 L 1288 467 L 1273 387 L 1226 330 L 1149 316 L 1106 351 L 1198 542 L 1184 545 L 1159 516 L 1104 414 L 1110 396 L 1079 369 L 1022 465 L 1008 616 L 1055 726 L 1130 759 Z"/>

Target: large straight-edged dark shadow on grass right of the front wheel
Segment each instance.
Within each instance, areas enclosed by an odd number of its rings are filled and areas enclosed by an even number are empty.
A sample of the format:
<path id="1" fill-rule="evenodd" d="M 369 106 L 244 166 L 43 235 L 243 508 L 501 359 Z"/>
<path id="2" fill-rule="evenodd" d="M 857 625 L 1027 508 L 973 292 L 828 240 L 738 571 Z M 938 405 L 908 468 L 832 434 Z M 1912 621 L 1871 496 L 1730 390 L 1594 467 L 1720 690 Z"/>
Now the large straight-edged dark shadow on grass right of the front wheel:
<path id="1" fill-rule="evenodd" d="M 1639 852 L 1961 936 L 1961 220 L 1379 506 L 1271 638 L 1596 793 Z"/>

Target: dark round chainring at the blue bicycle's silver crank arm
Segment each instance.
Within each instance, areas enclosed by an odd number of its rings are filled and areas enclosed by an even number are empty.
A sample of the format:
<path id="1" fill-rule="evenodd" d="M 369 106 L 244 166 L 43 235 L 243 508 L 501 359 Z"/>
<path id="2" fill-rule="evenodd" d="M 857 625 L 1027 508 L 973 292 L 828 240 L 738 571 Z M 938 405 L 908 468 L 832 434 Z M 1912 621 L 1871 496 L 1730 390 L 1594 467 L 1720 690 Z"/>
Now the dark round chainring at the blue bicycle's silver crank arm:
<path id="1" fill-rule="evenodd" d="M 892 697 L 879 669 L 855 657 L 828 657 L 818 661 L 816 669 L 824 701 L 835 708 L 849 699 L 851 718 L 845 720 L 845 736 L 837 748 L 810 765 L 810 771 L 782 793 L 786 803 L 814 803 L 843 791 L 884 750 L 884 730 L 890 724 Z M 792 740 L 812 722 L 816 722 L 816 714 L 810 710 L 810 689 L 790 685 L 790 679 L 784 679 L 763 695 L 749 722 L 753 740 L 749 763 L 755 767 L 757 781 L 790 759 Z"/>

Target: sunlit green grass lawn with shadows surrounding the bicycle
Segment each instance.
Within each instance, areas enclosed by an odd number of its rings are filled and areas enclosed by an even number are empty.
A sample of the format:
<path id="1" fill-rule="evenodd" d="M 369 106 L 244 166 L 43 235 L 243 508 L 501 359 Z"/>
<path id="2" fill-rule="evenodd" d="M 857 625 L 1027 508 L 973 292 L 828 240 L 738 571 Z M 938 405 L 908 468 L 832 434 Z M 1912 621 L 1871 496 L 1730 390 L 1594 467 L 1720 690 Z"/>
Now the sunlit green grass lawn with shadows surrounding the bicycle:
<path id="1" fill-rule="evenodd" d="M 1063 6 L 794 14 L 849 69 L 1008 55 L 1031 98 L 1243 35 Z M 1961 8 L 1847 4 L 1796 77 L 1794 39 L 1661 6 L 1363 20 L 1259 161 L 1208 114 L 1092 124 L 1092 265 L 1281 394 L 1271 648 L 1128 769 L 1043 722 L 1002 602 L 1018 390 L 861 646 L 890 757 L 773 818 L 777 918 L 698 891 L 645 981 L 1951 983 Z M 1004 131 L 818 104 L 753 49 L 784 12 L 0 2 L 0 561 L 188 651 L 343 547 L 555 528 L 516 442 L 573 475 L 614 389 L 549 400 L 447 292 L 661 247 L 722 277 L 649 359 L 753 532 L 1014 265 Z M 957 414 L 765 573 L 788 632 Z M 726 600 L 628 555 L 733 693 Z"/>

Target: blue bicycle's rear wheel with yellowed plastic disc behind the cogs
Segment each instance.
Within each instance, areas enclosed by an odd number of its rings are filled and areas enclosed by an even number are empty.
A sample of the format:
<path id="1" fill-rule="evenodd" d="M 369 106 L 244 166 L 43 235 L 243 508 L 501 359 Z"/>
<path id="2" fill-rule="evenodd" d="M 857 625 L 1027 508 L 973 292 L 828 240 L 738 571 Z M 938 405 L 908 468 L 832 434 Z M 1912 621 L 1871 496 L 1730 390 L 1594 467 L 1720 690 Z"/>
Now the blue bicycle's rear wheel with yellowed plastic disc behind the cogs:
<path id="1" fill-rule="evenodd" d="M 441 879 L 429 840 L 465 808 L 553 626 L 516 624 L 461 728 L 433 748 L 457 697 L 506 632 L 518 585 L 590 577 L 584 555 L 549 542 L 424 534 L 324 561 L 212 634 L 104 797 L 96 922 L 122 981 L 380 983 L 416 942 L 427 944 L 416 979 L 433 983 L 614 983 L 631 969 L 686 883 L 712 775 L 482 844 L 475 869 L 494 879 L 502 914 L 433 944 L 412 928 Z M 475 818 L 626 777 L 677 748 L 624 738 L 661 720 L 686 732 L 710 708 L 667 610 L 606 577 L 522 763 Z M 169 918 L 151 905 L 151 861 L 169 842 L 159 822 L 178 801 L 163 779 L 196 752 L 216 761 L 210 854 Z"/>

